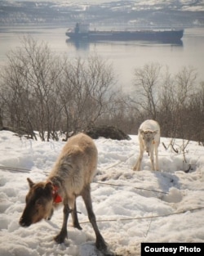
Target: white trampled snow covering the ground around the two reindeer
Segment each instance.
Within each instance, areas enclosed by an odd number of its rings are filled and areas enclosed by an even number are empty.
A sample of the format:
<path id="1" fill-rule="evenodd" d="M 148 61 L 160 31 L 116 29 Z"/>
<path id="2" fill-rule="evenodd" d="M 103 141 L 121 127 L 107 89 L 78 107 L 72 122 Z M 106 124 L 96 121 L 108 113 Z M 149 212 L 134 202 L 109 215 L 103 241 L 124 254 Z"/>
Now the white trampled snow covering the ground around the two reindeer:
<path id="1" fill-rule="evenodd" d="M 149 156 L 144 154 L 142 170 L 134 172 L 139 142 L 137 136 L 131 138 L 95 140 L 99 163 L 91 196 L 109 249 L 119 255 L 135 256 L 140 255 L 141 242 L 203 242 L 204 147 L 190 141 L 184 164 L 184 141 L 175 140 L 177 154 L 169 146 L 171 139 L 162 137 L 161 170 L 151 171 Z M 57 245 L 53 240 L 62 225 L 62 208 L 55 211 L 51 221 L 42 220 L 27 228 L 18 223 L 29 190 L 26 178 L 46 180 L 64 143 L 32 141 L 12 132 L 0 132 L 1 256 L 101 256 L 95 249 L 95 234 L 81 198 L 77 204 L 82 231 L 74 229 L 69 218 L 69 238 L 64 244 Z M 191 169 L 184 172 L 189 164 Z M 14 169 L 5 169 L 8 167 Z"/>

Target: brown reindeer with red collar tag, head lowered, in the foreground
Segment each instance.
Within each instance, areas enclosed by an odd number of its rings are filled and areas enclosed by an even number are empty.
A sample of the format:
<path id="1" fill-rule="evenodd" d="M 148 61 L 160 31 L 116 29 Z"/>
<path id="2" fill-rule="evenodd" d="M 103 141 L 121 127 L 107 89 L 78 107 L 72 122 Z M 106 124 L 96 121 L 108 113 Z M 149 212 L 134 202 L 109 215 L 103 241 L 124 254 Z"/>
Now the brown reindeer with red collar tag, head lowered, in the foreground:
<path id="1" fill-rule="evenodd" d="M 60 201 L 64 204 L 64 220 L 57 243 L 63 243 L 67 237 L 67 222 L 72 214 L 73 227 L 82 229 L 78 222 L 76 198 L 82 195 L 86 204 L 89 220 L 95 231 L 96 247 L 103 252 L 107 245 L 101 236 L 95 221 L 95 213 L 91 203 L 90 183 L 95 175 L 98 152 L 91 137 L 80 133 L 69 138 L 46 182 L 33 183 L 29 178 L 29 193 L 26 205 L 20 218 L 22 227 L 29 227 L 42 218 L 50 219 L 53 209 Z"/>

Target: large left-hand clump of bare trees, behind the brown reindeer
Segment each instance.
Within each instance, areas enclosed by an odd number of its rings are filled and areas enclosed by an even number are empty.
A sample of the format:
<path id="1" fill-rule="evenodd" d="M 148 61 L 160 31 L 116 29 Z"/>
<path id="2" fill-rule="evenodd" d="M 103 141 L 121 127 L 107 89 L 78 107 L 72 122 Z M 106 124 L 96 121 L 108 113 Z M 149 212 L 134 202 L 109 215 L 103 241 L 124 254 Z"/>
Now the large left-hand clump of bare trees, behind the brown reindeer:
<path id="1" fill-rule="evenodd" d="M 4 121 L 23 127 L 42 141 L 58 139 L 56 131 L 82 131 L 109 112 L 113 104 L 114 75 L 99 56 L 86 61 L 60 59 L 47 43 L 22 38 L 21 47 L 8 55 L 1 72 Z"/>

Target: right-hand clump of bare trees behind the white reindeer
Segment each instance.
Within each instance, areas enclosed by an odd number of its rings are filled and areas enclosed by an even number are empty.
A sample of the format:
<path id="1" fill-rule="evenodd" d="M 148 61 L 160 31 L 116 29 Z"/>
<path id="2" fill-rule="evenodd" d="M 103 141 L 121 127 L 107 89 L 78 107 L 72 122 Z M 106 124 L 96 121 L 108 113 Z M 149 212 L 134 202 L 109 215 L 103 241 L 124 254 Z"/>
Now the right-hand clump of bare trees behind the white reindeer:
<path id="1" fill-rule="evenodd" d="M 197 140 L 198 134 L 202 137 L 203 92 L 197 85 L 196 70 L 183 67 L 175 75 L 168 69 L 162 71 L 162 66 L 155 63 L 135 70 L 133 101 L 140 112 L 138 119 L 156 119 L 164 137 Z"/>

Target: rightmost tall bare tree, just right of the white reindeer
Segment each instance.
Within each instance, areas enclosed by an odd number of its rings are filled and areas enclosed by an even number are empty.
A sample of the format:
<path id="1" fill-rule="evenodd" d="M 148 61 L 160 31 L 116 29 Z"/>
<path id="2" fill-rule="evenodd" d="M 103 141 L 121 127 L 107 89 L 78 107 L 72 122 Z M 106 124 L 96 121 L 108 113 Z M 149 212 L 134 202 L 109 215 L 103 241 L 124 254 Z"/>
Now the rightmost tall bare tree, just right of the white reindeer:
<path id="1" fill-rule="evenodd" d="M 196 78 L 196 70 L 191 67 L 183 67 L 174 76 L 168 72 L 163 76 L 158 117 L 163 136 L 192 137 L 189 106 L 197 94 Z"/>

